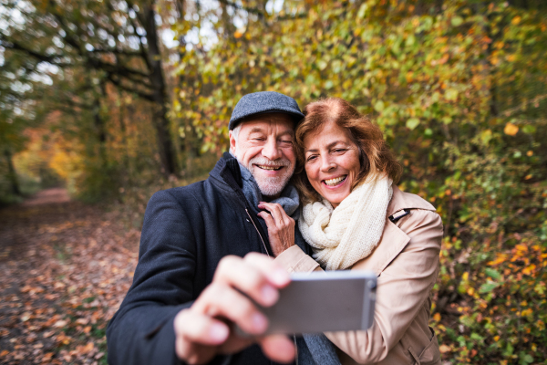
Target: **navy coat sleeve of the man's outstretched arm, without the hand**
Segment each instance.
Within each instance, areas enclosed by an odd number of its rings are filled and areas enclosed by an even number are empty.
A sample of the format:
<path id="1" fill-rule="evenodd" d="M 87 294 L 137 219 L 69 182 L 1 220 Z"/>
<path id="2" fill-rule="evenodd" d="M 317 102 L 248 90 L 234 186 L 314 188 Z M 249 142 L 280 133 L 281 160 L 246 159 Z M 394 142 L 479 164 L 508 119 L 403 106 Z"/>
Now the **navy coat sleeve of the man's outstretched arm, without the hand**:
<path id="1" fill-rule="evenodd" d="M 190 220 L 169 192 L 155 193 L 144 217 L 133 284 L 108 323 L 110 364 L 177 363 L 173 320 L 191 307 L 194 270 Z"/>

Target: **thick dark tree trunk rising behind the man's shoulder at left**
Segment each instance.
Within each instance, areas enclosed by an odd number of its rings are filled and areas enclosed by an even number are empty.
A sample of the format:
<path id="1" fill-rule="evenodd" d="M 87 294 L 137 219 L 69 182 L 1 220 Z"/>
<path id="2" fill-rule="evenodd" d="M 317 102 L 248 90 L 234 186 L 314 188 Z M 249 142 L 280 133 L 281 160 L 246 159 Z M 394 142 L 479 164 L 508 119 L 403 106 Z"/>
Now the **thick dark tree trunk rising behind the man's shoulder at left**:
<path id="1" fill-rule="evenodd" d="M 161 67 L 160 40 L 156 27 L 156 12 L 154 4 L 147 5 L 143 9 L 146 28 L 146 40 L 148 43 L 148 56 L 150 63 L 150 84 L 152 86 L 152 98 L 154 99 L 154 126 L 158 138 L 158 151 L 160 152 L 161 170 L 169 176 L 177 172 L 177 161 L 173 151 L 173 143 L 170 139 L 170 122 L 167 117 L 167 91 L 165 78 Z"/>

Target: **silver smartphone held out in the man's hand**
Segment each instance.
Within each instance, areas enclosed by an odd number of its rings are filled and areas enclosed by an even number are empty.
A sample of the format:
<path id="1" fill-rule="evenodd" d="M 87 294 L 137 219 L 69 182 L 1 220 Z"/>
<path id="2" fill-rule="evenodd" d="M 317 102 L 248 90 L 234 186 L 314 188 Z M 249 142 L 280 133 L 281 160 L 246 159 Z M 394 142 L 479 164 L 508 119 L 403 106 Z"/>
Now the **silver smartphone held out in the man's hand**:
<path id="1" fill-rule="evenodd" d="M 362 330 L 372 326 L 377 276 L 368 271 L 298 273 L 270 308 L 266 334 Z"/>

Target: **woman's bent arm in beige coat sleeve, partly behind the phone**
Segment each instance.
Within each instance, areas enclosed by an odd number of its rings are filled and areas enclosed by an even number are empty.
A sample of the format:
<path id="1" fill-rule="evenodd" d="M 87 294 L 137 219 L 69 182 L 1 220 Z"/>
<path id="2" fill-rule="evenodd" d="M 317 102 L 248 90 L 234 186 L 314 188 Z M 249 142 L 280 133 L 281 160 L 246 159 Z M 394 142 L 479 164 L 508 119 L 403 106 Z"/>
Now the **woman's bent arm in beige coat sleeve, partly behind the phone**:
<path id="1" fill-rule="evenodd" d="M 374 363 L 386 358 L 425 305 L 437 279 L 443 233 L 439 214 L 413 210 L 408 218 L 397 225 L 410 240 L 378 276 L 373 326 L 366 331 L 325 333 L 328 339 L 358 363 Z M 389 244 L 385 241 L 380 245 Z M 275 260 L 289 272 L 320 269 L 313 267 L 311 261 L 315 260 L 298 247 L 289 248 Z"/>

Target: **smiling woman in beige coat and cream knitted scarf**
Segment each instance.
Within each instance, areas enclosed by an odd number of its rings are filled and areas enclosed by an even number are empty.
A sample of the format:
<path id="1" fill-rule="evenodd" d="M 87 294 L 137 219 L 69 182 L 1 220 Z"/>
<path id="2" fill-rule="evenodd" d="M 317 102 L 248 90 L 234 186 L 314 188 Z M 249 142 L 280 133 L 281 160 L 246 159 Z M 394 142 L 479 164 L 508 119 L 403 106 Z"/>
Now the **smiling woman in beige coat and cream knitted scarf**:
<path id="1" fill-rule="evenodd" d="M 283 209 L 261 203 L 272 215 L 261 214 L 272 245 L 279 245 L 274 251 L 284 250 L 276 261 L 289 272 L 377 273 L 373 326 L 325 333 L 340 363 L 440 364 L 437 337 L 428 326 L 443 235 L 439 214 L 418 195 L 397 188 L 400 167 L 382 132 L 345 100 L 315 101 L 304 114 L 296 130 L 304 164 L 295 176 L 303 201 L 297 229 L 313 247 L 315 260 L 286 238 L 291 224 L 279 224 L 288 221 Z M 307 349 L 299 343 L 301 353 L 325 350 L 308 339 L 314 338 L 306 338 Z"/>

